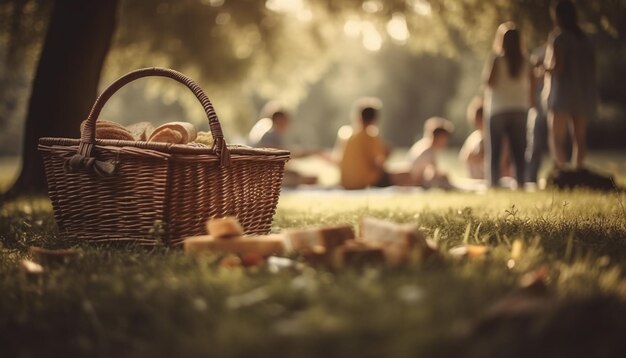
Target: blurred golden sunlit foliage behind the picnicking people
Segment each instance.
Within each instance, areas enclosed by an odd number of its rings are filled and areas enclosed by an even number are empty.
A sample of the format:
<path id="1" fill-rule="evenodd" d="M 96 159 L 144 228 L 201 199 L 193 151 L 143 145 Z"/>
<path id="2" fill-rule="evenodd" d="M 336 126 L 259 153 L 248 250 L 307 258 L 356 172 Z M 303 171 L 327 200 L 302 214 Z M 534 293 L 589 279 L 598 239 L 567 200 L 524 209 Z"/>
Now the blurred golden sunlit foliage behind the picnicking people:
<path id="1" fill-rule="evenodd" d="M 63 0 L 57 0 L 63 1 Z M 0 2 L 0 152 L 17 154 L 28 93 L 52 3 Z M 120 0 L 100 88 L 144 66 L 188 74 L 215 102 L 227 139 L 239 141 L 269 99 L 294 112 L 292 140 L 329 146 L 349 123 L 351 102 L 375 95 L 385 103 L 383 134 L 407 146 L 429 116 L 466 133 L 465 106 L 480 91 L 497 25 L 513 20 L 528 50 L 552 28 L 549 0 Z M 594 131 L 626 128 L 626 1 L 579 1 L 597 49 L 602 105 Z M 72 96 L 72 93 L 65 93 Z M 120 122 L 189 120 L 201 107 L 166 79 L 144 79 L 120 91 L 104 117 Z M 91 104 L 91 103 L 89 103 Z M 78 136 L 78 122 L 60 130 Z M 68 122 L 69 123 L 69 122 Z M 204 124 L 206 126 L 206 124 Z M 206 128 L 206 127 L 204 127 Z M 621 144 L 606 131 L 603 144 Z M 613 137 L 611 137 L 611 135 Z"/>

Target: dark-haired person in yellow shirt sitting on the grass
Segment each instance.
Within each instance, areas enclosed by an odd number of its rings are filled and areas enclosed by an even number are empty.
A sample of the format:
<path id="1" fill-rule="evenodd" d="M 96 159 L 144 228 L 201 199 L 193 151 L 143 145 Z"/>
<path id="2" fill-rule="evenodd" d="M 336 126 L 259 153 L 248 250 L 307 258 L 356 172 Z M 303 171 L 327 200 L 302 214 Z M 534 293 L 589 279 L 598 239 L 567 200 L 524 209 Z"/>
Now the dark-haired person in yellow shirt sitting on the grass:
<path id="1" fill-rule="evenodd" d="M 376 98 L 361 98 L 355 102 L 355 128 L 343 144 L 339 160 L 341 186 L 346 189 L 391 185 L 389 174 L 384 170 L 389 151 L 376 124 L 381 106 Z"/>

